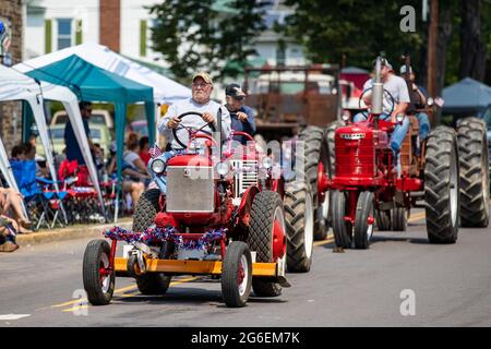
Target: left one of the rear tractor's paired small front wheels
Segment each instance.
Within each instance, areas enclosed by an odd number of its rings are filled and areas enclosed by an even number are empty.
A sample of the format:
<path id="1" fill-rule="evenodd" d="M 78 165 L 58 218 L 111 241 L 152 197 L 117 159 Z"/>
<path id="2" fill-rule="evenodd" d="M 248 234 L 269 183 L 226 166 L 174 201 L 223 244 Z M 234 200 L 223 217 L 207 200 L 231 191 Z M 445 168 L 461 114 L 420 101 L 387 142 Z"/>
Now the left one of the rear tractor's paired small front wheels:
<path id="1" fill-rule="evenodd" d="M 333 232 L 336 246 L 350 249 L 352 241 L 352 225 L 345 220 L 349 213 L 347 193 L 333 191 L 331 193 L 331 207 L 333 207 Z"/>

